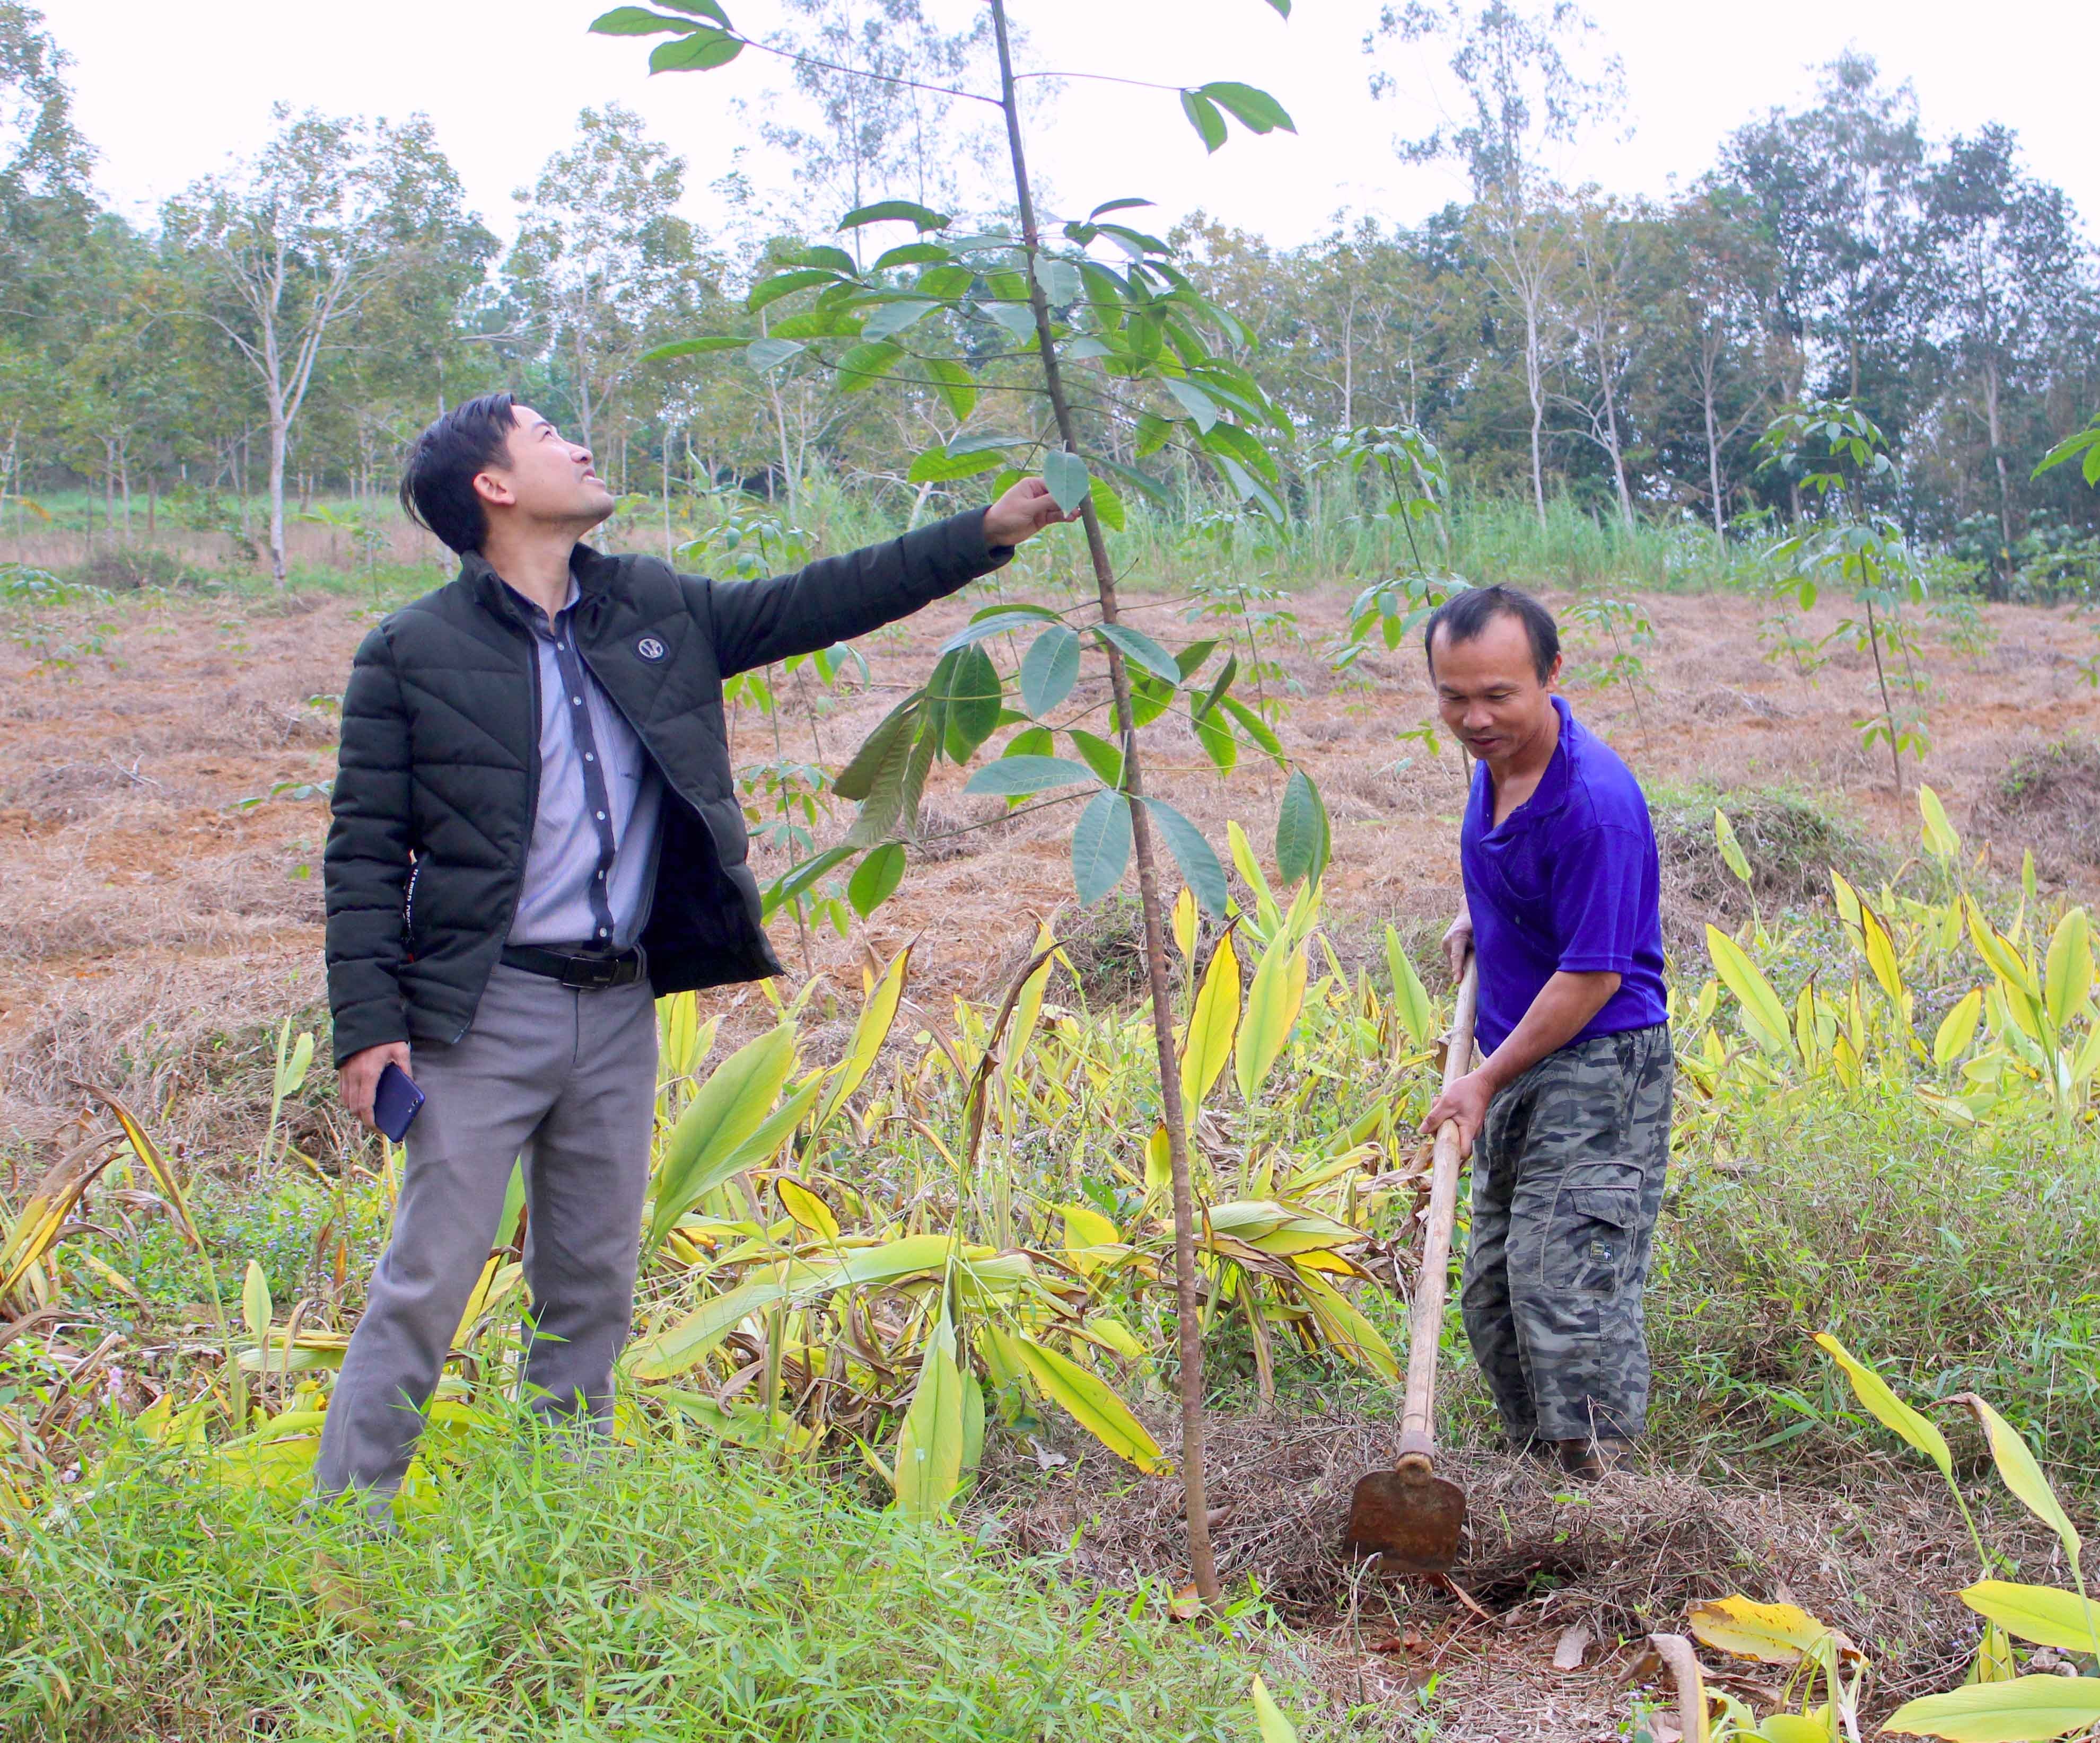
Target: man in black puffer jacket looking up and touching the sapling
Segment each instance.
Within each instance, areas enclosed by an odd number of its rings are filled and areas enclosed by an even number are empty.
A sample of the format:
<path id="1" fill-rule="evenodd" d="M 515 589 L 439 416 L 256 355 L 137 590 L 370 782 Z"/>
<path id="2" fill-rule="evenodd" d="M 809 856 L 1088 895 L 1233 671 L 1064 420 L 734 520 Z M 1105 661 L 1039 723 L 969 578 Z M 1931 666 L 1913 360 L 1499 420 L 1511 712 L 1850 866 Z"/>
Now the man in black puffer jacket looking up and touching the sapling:
<path id="1" fill-rule="evenodd" d="M 512 1161 L 525 1166 L 527 1394 L 603 1424 L 630 1329 L 655 998 L 777 974 L 746 865 L 722 678 L 905 617 L 1058 512 L 991 508 L 771 582 L 580 540 L 590 452 L 510 395 L 445 414 L 401 502 L 460 575 L 357 649 L 328 834 L 328 995 L 346 1107 L 424 1092 L 393 1239 L 328 1409 L 315 1489 L 384 1518 Z"/>

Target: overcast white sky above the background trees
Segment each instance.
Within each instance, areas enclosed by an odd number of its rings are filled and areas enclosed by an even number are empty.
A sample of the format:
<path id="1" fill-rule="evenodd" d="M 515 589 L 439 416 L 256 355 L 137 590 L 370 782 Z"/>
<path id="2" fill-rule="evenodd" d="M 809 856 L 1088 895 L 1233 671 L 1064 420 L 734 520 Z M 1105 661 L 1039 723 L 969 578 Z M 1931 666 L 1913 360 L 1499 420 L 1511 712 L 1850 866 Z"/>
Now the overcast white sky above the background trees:
<path id="1" fill-rule="evenodd" d="M 781 84 L 779 65 L 746 55 L 714 74 L 649 78 L 647 44 L 586 36 L 611 0 L 42 0 L 76 57 L 80 122 L 101 147 L 99 181 L 147 216 L 168 193 L 252 149 L 269 105 L 401 118 L 426 111 L 483 218 L 508 235 L 512 189 L 569 136 L 578 107 L 617 99 L 643 111 L 689 160 L 689 210 L 718 216 L 708 183 L 748 139 L 731 97 Z M 762 34 L 777 0 L 727 0 Z M 956 15 L 968 0 L 937 0 Z M 1378 0 L 1298 0 L 1287 23 L 1262 0 L 1012 0 L 1037 65 L 1121 71 L 1174 84 L 1239 78 L 1277 94 L 1298 136 L 1233 141 L 1205 158 L 1172 94 L 1067 84 L 1031 151 L 1067 208 L 1138 193 L 1166 216 L 1195 206 L 1292 244 L 1336 208 L 1415 223 L 1462 191 L 1451 170 L 1394 162 L 1394 132 L 1436 120 L 1449 76 L 1434 52 L 1384 48 L 1399 92 L 1373 103 L 1359 44 Z M 1590 0 L 1628 74 L 1630 139 L 1598 130 L 1562 164 L 1571 181 L 1665 195 L 1714 160 L 1716 143 L 1774 103 L 1798 103 L 1812 67 L 1848 44 L 1917 88 L 1932 134 L 1999 120 L 2026 162 L 2100 214 L 2094 65 L 2100 8 L 2014 0 L 1848 0 L 1842 6 L 1716 6 Z M 762 158 L 754 176 L 785 178 Z"/>

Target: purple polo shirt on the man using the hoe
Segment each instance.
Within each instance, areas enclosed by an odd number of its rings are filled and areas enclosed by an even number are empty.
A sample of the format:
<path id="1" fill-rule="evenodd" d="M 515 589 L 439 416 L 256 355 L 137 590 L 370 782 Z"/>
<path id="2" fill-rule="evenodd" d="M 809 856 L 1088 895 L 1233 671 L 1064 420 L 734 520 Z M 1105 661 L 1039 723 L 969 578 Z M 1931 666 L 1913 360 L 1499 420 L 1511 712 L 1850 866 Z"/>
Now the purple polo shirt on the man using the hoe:
<path id="1" fill-rule="evenodd" d="M 1495 827 L 1495 783 L 1472 771 L 1460 869 L 1480 962 L 1480 1052 L 1499 1048 L 1558 970 L 1619 989 L 1567 1046 L 1646 1029 L 1663 1002 L 1661 865 L 1648 802 L 1619 754 L 1562 697 L 1560 743 L 1537 792 Z"/>

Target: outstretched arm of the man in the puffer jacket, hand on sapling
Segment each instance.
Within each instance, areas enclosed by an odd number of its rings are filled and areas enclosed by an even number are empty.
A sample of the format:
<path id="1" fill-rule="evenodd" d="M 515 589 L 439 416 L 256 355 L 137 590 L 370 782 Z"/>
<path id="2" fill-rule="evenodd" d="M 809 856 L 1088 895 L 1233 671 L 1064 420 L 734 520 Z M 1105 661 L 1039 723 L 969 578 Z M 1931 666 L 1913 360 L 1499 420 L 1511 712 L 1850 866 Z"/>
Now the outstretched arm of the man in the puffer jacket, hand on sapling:
<path id="1" fill-rule="evenodd" d="M 693 586 L 708 590 L 714 657 L 727 678 L 909 617 L 1002 567 L 1023 540 L 1071 519 L 1042 479 L 1023 479 L 989 508 L 819 559 L 792 575 Z"/>

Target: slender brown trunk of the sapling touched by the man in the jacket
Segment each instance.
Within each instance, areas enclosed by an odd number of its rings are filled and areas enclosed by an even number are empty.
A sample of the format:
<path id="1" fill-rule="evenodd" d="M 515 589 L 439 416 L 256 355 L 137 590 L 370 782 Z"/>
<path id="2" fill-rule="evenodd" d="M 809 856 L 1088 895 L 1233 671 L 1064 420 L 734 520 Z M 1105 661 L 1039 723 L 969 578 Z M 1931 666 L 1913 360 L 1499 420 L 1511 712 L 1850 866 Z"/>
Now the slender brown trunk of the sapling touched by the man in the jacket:
<path id="1" fill-rule="evenodd" d="M 1035 344 L 1044 361 L 1044 384 L 1056 416 L 1058 439 L 1077 452 L 1071 403 L 1050 336 L 1050 300 L 1035 277 L 1035 202 L 1029 166 L 1021 149 L 1021 105 L 1014 97 L 1014 63 L 1006 36 L 1006 0 L 991 0 L 991 27 L 1000 50 L 1000 103 L 1006 109 L 1006 147 L 1014 166 L 1014 197 L 1021 208 L 1021 246 L 1029 269 L 1029 304 L 1035 309 Z M 1094 504 L 1082 506 L 1086 550 L 1094 563 L 1100 620 L 1117 622 L 1115 567 L 1100 533 Z M 1159 872 L 1153 861 L 1151 819 L 1144 813 L 1144 781 L 1138 762 L 1138 727 L 1130 708 L 1130 674 L 1121 653 L 1109 649 L 1109 687 L 1124 731 L 1124 792 L 1130 796 L 1130 844 L 1138 861 L 1138 907 L 1144 918 L 1144 979 L 1153 995 L 1153 1048 L 1159 1056 L 1159 1117 L 1168 1128 L 1168 1163 L 1174 1174 L 1174 1312 L 1180 1331 L 1180 1418 L 1182 1418 L 1182 1516 L 1189 1529 L 1189 1571 L 1197 1596 L 1216 1606 L 1218 1562 L 1210 1548 L 1210 1499 L 1203 1487 L 1203 1323 L 1195 1283 L 1195 1201 L 1189 1184 L 1189 1134 L 1182 1126 L 1180 1069 L 1174 1058 L 1174 1006 L 1168 983 L 1166 924 L 1159 907 Z"/>

